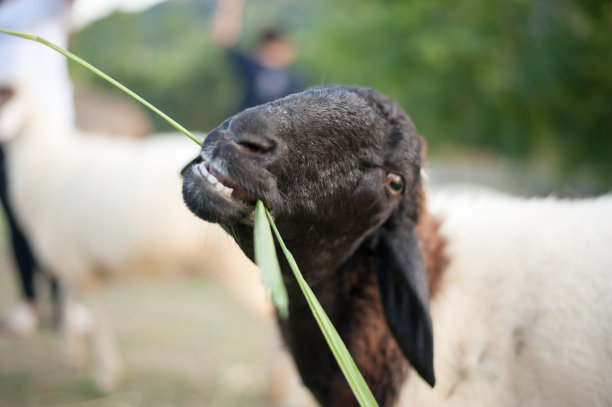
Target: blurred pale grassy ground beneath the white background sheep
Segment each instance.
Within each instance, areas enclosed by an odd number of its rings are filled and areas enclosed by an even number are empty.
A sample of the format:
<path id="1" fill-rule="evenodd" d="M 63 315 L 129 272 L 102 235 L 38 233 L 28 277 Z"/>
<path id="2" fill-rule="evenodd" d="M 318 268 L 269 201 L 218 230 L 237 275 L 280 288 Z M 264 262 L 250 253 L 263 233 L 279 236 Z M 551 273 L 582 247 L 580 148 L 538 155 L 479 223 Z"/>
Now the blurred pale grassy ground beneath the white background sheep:
<path id="1" fill-rule="evenodd" d="M 0 218 L 0 311 L 17 298 Z M 199 275 L 132 280 L 105 290 L 126 373 L 100 394 L 89 371 L 63 363 L 51 327 L 27 338 L 0 334 L 0 407 L 266 406 L 266 328 Z"/>

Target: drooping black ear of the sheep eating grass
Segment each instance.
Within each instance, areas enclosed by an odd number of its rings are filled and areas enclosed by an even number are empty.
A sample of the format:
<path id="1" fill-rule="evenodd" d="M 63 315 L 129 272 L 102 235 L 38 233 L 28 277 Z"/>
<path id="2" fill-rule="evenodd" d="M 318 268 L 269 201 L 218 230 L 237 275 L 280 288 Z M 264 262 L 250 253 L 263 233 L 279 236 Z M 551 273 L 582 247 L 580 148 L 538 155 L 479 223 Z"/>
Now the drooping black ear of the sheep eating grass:
<path id="1" fill-rule="evenodd" d="M 375 246 L 376 272 L 387 323 L 412 367 L 435 384 L 433 330 L 425 261 L 411 230 L 382 231 Z"/>

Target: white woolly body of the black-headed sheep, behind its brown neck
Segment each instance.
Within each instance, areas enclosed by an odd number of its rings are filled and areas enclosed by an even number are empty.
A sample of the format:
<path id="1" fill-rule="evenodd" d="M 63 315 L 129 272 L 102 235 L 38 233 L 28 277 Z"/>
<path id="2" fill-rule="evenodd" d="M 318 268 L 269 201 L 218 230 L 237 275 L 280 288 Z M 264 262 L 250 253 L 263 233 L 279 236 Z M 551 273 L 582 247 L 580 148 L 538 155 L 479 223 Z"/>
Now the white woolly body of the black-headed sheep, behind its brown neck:
<path id="1" fill-rule="evenodd" d="M 612 405 L 612 195 L 434 193 L 449 265 L 431 302 L 436 386 L 401 406 Z"/>

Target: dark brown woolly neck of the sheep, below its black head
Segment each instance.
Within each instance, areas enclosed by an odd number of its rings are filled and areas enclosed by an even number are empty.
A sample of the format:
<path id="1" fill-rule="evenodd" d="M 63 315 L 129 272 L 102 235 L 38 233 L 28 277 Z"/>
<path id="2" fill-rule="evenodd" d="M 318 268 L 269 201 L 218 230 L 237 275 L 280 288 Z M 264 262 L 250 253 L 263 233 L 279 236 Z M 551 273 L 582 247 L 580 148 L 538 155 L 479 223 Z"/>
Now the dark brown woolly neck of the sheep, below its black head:
<path id="1" fill-rule="evenodd" d="M 408 363 L 385 323 L 374 267 L 371 253 L 360 249 L 313 291 L 380 406 L 391 406 Z M 357 406 L 299 288 L 289 284 L 287 289 L 290 316 L 280 325 L 302 380 L 322 405 Z"/>

